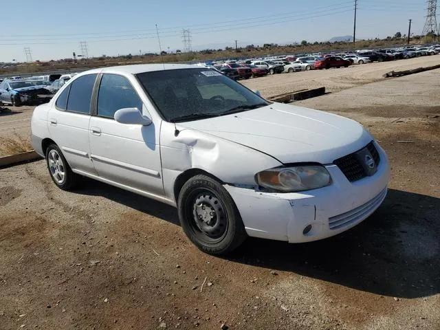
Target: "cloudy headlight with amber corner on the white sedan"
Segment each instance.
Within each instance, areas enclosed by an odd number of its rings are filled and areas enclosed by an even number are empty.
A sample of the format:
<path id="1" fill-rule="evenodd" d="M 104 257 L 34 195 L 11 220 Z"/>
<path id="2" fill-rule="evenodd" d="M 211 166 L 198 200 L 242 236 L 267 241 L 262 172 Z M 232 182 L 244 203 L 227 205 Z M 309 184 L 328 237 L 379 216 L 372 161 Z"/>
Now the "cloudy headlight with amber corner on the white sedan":
<path id="1" fill-rule="evenodd" d="M 256 183 L 281 192 L 296 192 L 329 186 L 331 177 L 324 166 L 292 166 L 263 170 L 256 174 Z"/>

